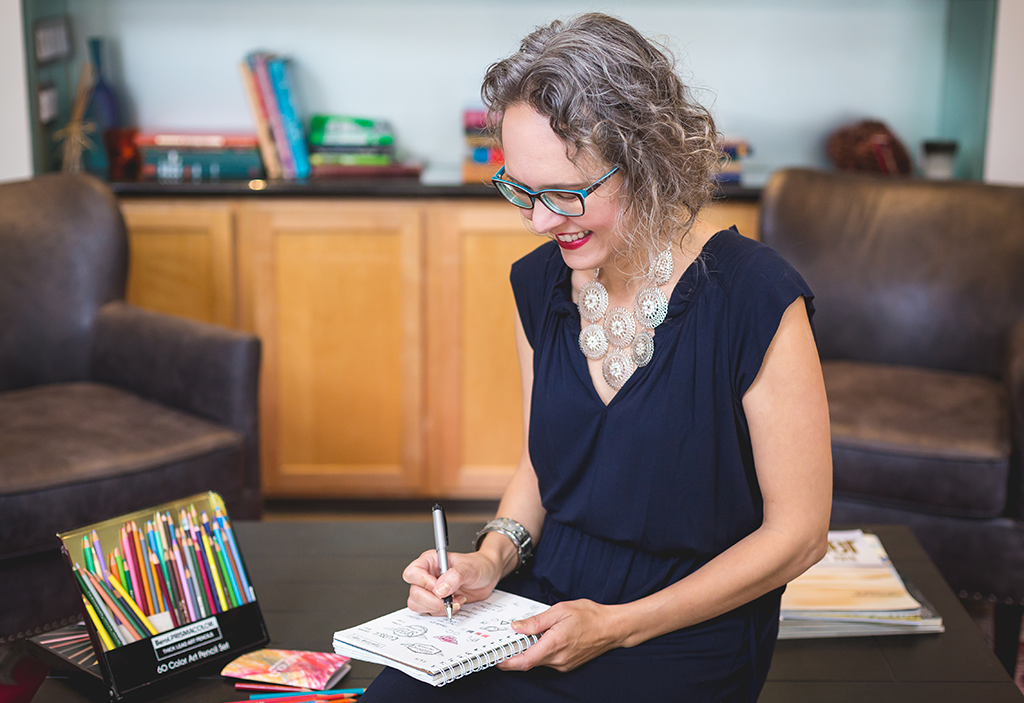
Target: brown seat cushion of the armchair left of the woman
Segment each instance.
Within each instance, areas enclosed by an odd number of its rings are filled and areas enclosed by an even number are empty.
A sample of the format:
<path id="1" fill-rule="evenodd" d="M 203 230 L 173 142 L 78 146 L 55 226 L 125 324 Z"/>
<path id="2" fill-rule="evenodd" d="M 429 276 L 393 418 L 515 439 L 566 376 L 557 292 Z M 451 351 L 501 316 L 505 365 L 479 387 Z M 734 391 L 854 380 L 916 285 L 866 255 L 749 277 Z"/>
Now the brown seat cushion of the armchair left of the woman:
<path id="1" fill-rule="evenodd" d="M 111 386 L 0 393 L 0 557 L 193 493 L 233 496 L 244 458 L 240 434 Z"/>

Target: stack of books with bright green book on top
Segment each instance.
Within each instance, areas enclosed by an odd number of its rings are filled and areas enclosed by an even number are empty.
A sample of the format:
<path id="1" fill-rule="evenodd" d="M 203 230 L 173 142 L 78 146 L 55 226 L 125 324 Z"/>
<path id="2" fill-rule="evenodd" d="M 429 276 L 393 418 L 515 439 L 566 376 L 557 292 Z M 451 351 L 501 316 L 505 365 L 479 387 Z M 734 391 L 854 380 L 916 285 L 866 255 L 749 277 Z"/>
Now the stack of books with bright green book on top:
<path id="1" fill-rule="evenodd" d="M 309 121 L 313 178 L 419 176 L 421 168 L 395 156 L 394 130 L 386 120 L 313 115 Z"/>

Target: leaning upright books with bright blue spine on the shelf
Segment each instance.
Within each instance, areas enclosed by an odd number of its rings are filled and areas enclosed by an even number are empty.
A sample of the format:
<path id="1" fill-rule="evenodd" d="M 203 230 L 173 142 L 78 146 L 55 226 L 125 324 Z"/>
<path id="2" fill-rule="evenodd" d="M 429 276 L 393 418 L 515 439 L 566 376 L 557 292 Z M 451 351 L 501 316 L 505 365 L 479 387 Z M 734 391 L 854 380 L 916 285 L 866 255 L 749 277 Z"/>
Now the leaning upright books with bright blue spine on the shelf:
<path id="1" fill-rule="evenodd" d="M 288 58 L 254 51 L 241 64 L 259 151 L 269 178 L 302 179 L 310 173 Z"/>

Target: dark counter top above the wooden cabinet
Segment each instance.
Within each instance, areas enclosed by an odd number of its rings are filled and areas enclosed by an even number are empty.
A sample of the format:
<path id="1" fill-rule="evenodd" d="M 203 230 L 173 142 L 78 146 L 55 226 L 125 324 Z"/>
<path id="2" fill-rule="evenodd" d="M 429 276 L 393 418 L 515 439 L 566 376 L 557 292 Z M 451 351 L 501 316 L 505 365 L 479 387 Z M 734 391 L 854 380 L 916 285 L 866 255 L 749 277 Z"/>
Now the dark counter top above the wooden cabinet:
<path id="1" fill-rule="evenodd" d="M 250 185 L 250 184 L 253 185 Z M 157 181 L 111 183 L 121 197 L 457 197 L 499 200 L 483 183 L 426 185 L 418 178 L 338 178 L 304 181 L 221 181 L 219 183 L 162 183 Z M 723 184 L 720 197 L 756 202 L 760 188 Z"/>

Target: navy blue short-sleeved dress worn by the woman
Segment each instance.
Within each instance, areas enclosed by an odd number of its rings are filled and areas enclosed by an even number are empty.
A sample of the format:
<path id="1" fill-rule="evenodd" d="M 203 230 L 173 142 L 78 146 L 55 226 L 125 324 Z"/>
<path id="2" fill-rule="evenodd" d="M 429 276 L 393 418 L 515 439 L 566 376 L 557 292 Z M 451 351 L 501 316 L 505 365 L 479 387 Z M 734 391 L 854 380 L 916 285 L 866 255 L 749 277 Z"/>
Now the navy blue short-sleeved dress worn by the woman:
<path id="1" fill-rule="evenodd" d="M 654 358 L 605 405 L 580 351 L 570 269 L 553 241 L 512 267 L 534 350 L 529 454 L 547 516 L 537 554 L 500 588 L 554 604 L 635 601 L 675 583 L 763 518 L 741 400 L 803 278 L 773 250 L 722 230 L 680 278 Z M 754 701 L 781 588 L 568 673 L 487 669 L 440 689 L 385 670 L 390 701 Z M 380 698 L 377 694 L 382 694 Z"/>

